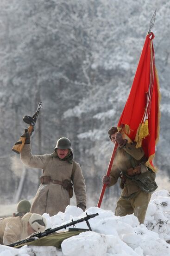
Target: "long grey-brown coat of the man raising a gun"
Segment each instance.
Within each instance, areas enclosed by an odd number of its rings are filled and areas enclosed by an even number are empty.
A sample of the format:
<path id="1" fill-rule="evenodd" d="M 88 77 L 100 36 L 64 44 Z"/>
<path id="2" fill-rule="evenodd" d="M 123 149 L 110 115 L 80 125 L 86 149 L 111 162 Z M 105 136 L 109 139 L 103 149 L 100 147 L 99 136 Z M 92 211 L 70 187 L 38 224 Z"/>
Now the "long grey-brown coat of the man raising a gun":
<path id="1" fill-rule="evenodd" d="M 86 206 L 86 186 L 82 175 L 82 169 L 75 162 L 76 168 L 73 171 L 73 163 L 61 161 L 55 154 L 32 155 L 30 144 L 24 145 L 20 153 L 21 161 L 29 167 L 43 169 L 43 175 L 50 176 L 52 180 L 63 182 L 65 179 L 73 182 L 77 205 L 82 203 Z M 56 215 L 59 211 L 64 212 L 70 204 L 69 192 L 63 189 L 62 185 L 41 184 L 34 197 L 30 212 L 49 213 Z"/>

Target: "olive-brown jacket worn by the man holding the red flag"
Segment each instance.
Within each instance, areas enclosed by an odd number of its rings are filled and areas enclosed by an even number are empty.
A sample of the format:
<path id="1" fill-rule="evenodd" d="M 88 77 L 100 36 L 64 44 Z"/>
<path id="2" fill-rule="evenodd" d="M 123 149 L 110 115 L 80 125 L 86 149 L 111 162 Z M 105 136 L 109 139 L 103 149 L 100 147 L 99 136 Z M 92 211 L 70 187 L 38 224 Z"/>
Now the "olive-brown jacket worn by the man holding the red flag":
<path id="1" fill-rule="evenodd" d="M 126 144 L 123 148 L 118 148 L 110 172 L 111 186 L 118 181 L 120 172 L 122 172 L 126 176 L 126 184 L 121 193 L 124 197 L 130 197 L 141 190 L 149 193 L 157 189 L 155 173 L 146 167 L 145 162 L 144 151 L 142 148 L 136 148 L 135 142 Z M 133 176 L 127 175 L 129 168 L 135 168 L 139 165 L 146 169 L 144 173 Z"/>

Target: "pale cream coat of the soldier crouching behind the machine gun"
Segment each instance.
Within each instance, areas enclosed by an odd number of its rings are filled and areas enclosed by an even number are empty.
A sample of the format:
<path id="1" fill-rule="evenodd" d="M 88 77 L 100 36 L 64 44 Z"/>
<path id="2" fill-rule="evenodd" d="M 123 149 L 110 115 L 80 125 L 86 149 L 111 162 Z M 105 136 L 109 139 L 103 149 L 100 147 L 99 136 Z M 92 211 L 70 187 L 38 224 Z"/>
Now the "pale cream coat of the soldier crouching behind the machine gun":
<path id="1" fill-rule="evenodd" d="M 0 219 L 0 244 L 10 244 L 28 236 L 28 220 L 31 213 L 23 217 L 7 217 Z"/>

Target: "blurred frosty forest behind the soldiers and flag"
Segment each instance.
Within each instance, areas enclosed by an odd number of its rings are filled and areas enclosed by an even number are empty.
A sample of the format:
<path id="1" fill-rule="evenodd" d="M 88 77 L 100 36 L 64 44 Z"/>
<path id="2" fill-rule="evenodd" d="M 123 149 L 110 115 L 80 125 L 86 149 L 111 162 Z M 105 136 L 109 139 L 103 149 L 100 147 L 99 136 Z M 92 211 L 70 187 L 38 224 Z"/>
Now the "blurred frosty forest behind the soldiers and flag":
<path id="1" fill-rule="evenodd" d="M 120 118 L 156 8 L 162 101 L 155 165 L 158 189 L 169 189 L 170 1 L 0 0 L 0 204 L 37 191 L 40 171 L 25 168 L 11 148 L 26 127 L 23 116 L 42 101 L 32 153 L 52 153 L 68 137 L 88 207 L 97 205 L 113 149 L 107 130 Z M 102 208 L 113 209 L 119 194 L 119 184 L 107 189 Z"/>

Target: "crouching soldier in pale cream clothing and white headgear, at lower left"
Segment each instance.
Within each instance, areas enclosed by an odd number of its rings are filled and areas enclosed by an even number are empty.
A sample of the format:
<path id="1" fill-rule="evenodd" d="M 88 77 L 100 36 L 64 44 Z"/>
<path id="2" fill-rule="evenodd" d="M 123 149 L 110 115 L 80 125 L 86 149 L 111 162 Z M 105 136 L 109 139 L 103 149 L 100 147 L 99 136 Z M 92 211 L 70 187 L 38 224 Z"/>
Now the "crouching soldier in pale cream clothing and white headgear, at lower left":
<path id="1" fill-rule="evenodd" d="M 26 213 L 23 217 L 0 219 L 0 244 L 10 244 L 25 239 L 34 232 L 46 229 L 46 219 L 39 214 Z"/>

